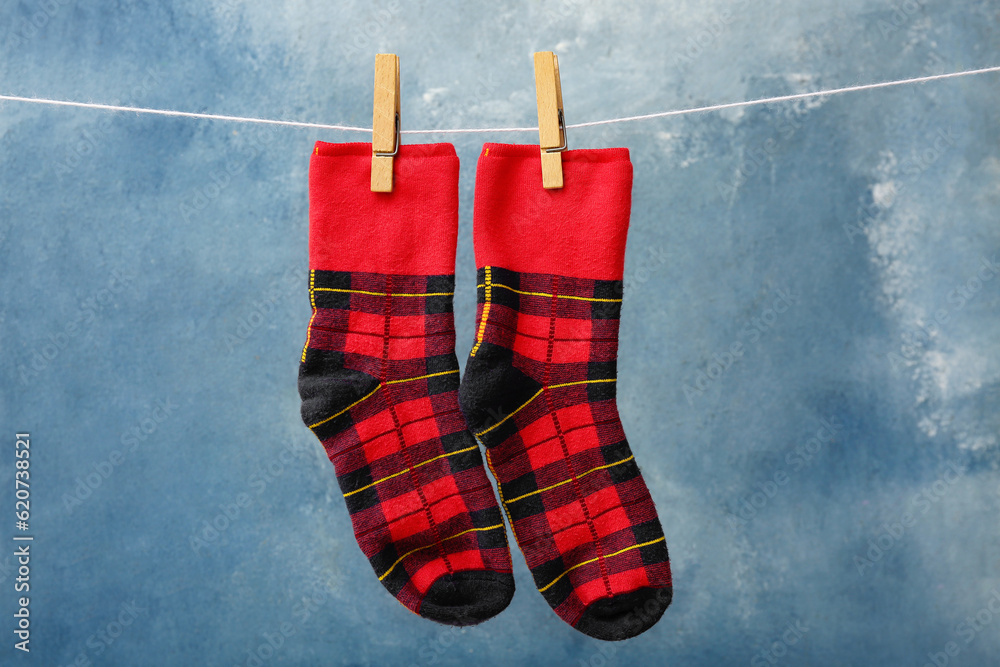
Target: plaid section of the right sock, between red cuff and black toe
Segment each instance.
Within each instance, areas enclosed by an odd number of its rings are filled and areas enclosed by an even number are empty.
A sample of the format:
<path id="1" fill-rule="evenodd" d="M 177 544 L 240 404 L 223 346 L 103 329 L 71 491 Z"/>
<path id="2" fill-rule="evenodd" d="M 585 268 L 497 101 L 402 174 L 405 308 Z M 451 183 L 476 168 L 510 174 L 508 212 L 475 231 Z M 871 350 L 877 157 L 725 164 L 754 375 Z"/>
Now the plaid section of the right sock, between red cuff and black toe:
<path id="1" fill-rule="evenodd" d="M 615 401 L 622 283 L 496 266 L 478 283 L 462 407 L 538 590 L 576 625 L 594 602 L 669 589 Z"/>

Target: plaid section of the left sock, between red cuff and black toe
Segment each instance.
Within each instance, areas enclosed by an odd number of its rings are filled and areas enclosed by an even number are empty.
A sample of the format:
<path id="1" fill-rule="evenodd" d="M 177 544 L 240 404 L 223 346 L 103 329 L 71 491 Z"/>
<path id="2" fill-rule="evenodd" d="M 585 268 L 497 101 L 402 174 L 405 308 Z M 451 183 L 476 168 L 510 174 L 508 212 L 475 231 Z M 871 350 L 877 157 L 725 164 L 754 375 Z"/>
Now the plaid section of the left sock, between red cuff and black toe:
<path id="1" fill-rule="evenodd" d="M 510 573 L 503 519 L 458 406 L 454 276 L 312 271 L 302 418 L 361 550 L 420 613 L 445 574 Z"/>

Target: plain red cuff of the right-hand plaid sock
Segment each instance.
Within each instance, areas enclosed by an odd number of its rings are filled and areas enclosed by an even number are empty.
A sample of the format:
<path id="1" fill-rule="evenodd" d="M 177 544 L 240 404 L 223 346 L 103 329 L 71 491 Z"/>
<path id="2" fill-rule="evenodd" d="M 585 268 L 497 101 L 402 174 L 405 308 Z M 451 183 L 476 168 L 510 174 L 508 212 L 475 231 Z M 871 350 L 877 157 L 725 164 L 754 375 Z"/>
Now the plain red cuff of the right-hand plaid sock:
<path id="1" fill-rule="evenodd" d="M 476 265 L 621 280 L 632 205 L 627 148 L 564 151 L 542 188 L 538 146 L 486 144 L 476 171 Z"/>

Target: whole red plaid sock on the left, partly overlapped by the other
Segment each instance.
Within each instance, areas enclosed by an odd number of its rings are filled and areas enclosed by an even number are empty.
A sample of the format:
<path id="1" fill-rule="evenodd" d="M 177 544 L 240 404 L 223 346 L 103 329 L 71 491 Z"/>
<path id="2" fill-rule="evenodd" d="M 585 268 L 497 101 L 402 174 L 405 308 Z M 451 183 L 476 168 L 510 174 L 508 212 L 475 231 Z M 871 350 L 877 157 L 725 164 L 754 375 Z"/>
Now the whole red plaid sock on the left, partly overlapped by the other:
<path id="1" fill-rule="evenodd" d="M 411 144 L 395 163 L 395 191 L 373 193 L 371 144 L 316 145 L 302 418 L 379 581 L 421 616 L 471 625 L 510 603 L 514 580 L 458 406 L 458 157 L 450 144 Z"/>

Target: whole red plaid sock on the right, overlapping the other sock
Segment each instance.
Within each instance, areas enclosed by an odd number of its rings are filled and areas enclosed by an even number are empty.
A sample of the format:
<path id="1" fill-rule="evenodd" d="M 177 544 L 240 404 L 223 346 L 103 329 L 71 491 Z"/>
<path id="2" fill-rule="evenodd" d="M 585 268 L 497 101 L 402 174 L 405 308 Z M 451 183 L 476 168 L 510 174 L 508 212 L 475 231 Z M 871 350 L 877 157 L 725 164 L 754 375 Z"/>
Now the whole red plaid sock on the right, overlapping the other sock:
<path id="1" fill-rule="evenodd" d="M 632 165 L 487 144 L 476 174 L 476 339 L 460 401 L 538 590 L 567 623 L 626 639 L 663 615 L 670 563 L 615 402 Z"/>

